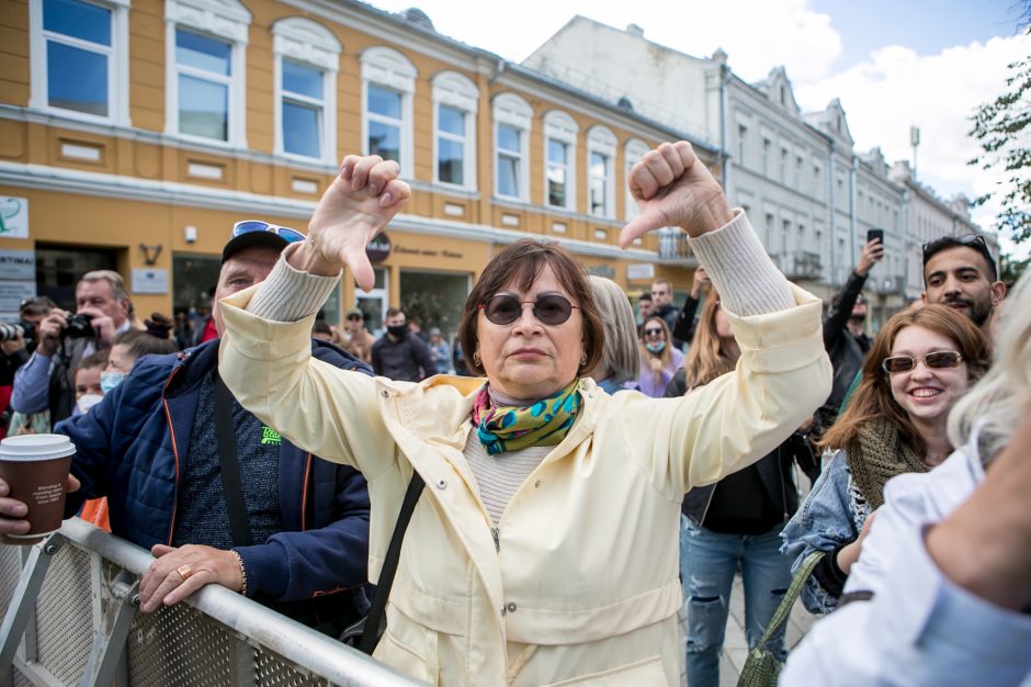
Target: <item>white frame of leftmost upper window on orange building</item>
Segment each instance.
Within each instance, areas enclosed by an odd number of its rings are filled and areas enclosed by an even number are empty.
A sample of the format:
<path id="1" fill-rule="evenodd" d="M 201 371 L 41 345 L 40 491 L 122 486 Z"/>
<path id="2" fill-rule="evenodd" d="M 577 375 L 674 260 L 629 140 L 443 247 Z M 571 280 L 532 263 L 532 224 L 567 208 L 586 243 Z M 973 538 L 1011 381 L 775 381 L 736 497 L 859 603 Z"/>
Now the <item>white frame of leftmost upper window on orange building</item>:
<path id="1" fill-rule="evenodd" d="M 64 34 L 43 30 L 43 0 L 29 2 L 30 93 L 29 106 L 64 119 L 129 126 L 128 106 L 128 10 L 129 0 L 78 0 L 111 10 L 111 46 L 99 46 Z M 46 44 L 53 40 L 107 58 L 107 115 L 101 116 L 49 104 Z"/>

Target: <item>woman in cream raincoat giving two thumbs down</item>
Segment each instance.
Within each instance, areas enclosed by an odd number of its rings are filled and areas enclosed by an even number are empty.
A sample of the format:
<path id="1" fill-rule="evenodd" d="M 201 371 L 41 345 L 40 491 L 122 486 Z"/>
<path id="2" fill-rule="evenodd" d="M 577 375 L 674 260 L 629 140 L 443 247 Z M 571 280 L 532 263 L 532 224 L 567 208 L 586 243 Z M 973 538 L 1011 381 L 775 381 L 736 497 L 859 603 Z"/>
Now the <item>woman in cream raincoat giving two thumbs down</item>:
<path id="1" fill-rule="evenodd" d="M 223 303 L 220 371 L 240 403 L 369 480 L 371 579 L 412 472 L 426 482 L 375 657 L 431 684 L 678 684 L 681 497 L 826 398 L 819 302 L 777 271 L 691 146 L 664 144 L 631 170 L 641 214 L 620 243 L 671 224 L 692 237 L 741 341 L 735 373 L 683 398 L 601 391 L 586 271 L 528 238 L 497 251 L 465 303 L 462 350 L 486 380 L 340 374 L 311 361 L 310 320 L 342 267 L 372 285 L 365 244 L 410 193 L 397 174 L 348 157 L 308 239 Z"/>

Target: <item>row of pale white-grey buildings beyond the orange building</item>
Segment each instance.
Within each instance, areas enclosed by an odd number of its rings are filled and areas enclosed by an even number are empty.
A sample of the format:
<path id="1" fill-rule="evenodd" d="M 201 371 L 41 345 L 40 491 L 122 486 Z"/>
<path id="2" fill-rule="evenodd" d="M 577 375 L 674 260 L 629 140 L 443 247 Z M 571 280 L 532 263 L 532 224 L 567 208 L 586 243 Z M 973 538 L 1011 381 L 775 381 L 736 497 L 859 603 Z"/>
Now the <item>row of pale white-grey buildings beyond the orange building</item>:
<path id="1" fill-rule="evenodd" d="M 865 286 L 874 319 L 883 322 L 922 290 L 924 239 L 914 238 L 908 225 L 929 211 L 907 209 L 917 194 L 890 176 L 880 149 L 854 149 L 837 99 L 803 113 L 782 67 L 748 83 L 722 50 L 698 58 L 646 40 L 635 25 L 621 31 L 584 16 L 523 65 L 598 98 L 623 99 L 644 116 L 711 145 L 730 202 L 748 211 L 767 251 L 804 288 L 829 297 L 858 261 L 866 232 L 880 228 L 885 258 Z M 941 202 L 938 207 L 955 214 Z M 933 227 L 934 236 L 978 230 L 968 214 L 965 224 Z M 921 236 L 930 235 L 925 228 Z"/>

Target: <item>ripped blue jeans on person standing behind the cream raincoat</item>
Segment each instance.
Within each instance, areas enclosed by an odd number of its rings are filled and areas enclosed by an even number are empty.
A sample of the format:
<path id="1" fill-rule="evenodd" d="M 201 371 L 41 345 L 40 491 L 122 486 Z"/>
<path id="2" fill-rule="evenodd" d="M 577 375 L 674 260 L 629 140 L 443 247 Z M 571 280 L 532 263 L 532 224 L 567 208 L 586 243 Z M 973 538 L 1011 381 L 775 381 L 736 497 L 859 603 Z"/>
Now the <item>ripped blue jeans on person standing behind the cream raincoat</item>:
<path id="1" fill-rule="evenodd" d="M 780 553 L 783 527 L 778 525 L 758 536 L 721 534 L 680 516 L 680 575 L 688 606 L 690 687 L 720 685 L 720 650 L 738 563 L 745 583 L 745 637 L 749 650 L 756 646 L 773 618 L 791 585 L 791 559 Z M 786 658 L 784 626 L 767 647 L 781 661 Z"/>

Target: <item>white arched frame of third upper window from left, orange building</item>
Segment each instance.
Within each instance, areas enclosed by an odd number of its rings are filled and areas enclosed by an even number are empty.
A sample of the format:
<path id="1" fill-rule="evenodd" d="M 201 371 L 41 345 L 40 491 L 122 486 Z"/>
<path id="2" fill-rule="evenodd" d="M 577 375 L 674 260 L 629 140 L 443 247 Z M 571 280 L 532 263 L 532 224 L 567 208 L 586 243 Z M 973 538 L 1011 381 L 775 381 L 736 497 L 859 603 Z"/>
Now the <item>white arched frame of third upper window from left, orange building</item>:
<path id="1" fill-rule="evenodd" d="M 326 165 L 337 164 L 337 71 L 342 46 L 331 31 L 302 16 L 288 16 L 272 24 L 272 49 L 275 113 L 275 154 L 301 160 L 318 159 Z M 322 98 L 314 101 L 299 94 L 288 100 L 305 102 L 321 109 L 319 116 L 319 156 L 287 153 L 283 136 L 283 59 L 291 59 L 322 72 Z"/>

